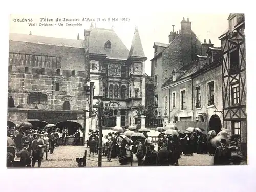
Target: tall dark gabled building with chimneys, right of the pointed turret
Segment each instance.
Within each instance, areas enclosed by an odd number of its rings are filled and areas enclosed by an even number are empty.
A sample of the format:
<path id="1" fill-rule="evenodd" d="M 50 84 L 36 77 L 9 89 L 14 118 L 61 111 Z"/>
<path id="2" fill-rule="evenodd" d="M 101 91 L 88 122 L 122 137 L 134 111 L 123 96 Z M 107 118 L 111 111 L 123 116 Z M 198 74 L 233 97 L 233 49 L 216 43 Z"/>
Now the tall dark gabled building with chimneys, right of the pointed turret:
<path id="1" fill-rule="evenodd" d="M 202 43 L 196 34 L 191 30 L 191 22 L 187 18 L 181 21 L 181 29 L 170 32 L 169 43 L 162 44 L 155 42 L 155 56 L 151 60 L 151 74 L 155 81 L 155 113 L 158 117 L 164 116 L 164 96 L 162 85 L 172 75 L 173 70 L 178 70 L 182 66 L 187 66 L 195 60 L 197 54 L 201 54 Z"/>

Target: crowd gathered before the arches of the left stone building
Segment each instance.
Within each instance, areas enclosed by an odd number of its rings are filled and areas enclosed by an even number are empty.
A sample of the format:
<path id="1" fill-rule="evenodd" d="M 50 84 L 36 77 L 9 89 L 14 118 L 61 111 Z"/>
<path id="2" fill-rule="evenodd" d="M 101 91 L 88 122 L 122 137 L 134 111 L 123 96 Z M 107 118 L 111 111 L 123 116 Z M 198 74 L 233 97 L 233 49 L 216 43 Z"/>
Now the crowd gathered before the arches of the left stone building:
<path id="1" fill-rule="evenodd" d="M 61 145 L 66 145 L 68 129 L 62 130 L 52 127 L 52 129 L 33 129 L 24 127 L 7 127 L 7 137 L 11 138 L 15 145 L 7 147 L 7 167 L 41 167 L 41 162 L 48 161 L 48 153 L 54 154 L 54 149 Z M 76 131 L 73 145 L 80 142 L 80 132 Z"/>

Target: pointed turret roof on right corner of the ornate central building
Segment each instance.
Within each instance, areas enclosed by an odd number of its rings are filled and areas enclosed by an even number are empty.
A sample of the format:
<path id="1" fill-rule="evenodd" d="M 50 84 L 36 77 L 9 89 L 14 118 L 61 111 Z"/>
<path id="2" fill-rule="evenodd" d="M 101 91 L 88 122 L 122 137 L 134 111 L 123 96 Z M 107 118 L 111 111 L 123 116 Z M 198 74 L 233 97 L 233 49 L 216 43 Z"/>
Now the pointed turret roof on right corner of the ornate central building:
<path id="1" fill-rule="evenodd" d="M 135 28 L 133 41 L 132 41 L 132 45 L 131 45 L 131 49 L 128 57 L 145 57 L 141 40 L 140 40 L 138 27 Z"/>

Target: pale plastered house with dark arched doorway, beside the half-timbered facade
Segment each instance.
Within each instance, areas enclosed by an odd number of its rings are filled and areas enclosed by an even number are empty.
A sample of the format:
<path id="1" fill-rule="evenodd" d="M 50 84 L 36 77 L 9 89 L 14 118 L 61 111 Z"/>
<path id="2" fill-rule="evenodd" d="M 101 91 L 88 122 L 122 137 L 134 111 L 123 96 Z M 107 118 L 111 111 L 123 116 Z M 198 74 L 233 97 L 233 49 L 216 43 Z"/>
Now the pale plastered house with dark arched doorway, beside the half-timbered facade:
<path id="1" fill-rule="evenodd" d="M 222 127 L 221 48 L 204 40 L 202 54 L 189 65 L 174 69 L 162 86 L 165 115 L 181 129 Z"/>

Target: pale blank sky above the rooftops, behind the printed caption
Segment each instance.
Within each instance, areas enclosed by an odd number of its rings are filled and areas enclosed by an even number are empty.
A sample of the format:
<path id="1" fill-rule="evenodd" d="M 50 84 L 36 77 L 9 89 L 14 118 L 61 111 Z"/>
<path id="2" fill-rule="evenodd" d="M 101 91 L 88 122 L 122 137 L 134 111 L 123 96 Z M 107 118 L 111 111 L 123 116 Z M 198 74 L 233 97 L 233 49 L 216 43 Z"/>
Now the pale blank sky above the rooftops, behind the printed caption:
<path id="1" fill-rule="evenodd" d="M 211 42 L 214 46 L 221 46 L 221 42 L 218 40 L 218 37 L 228 28 L 228 15 L 227 14 L 187 14 L 187 13 L 158 13 L 153 14 L 144 14 L 143 16 L 133 16 L 129 18 L 129 22 L 103 22 L 103 18 L 118 18 L 118 17 L 105 17 L 97 16 L 90 18 L 101 18 L 100 22 L 96 23 L 96 27 L 100 28 L 112 28 L 117 35 L 121 38 L 124 45 L 127 49 L 130 50 L 133 33 L 135 26 L 138 26 L 140 38 L 142 41 L 143 50 L 147 60 L 145 62 L 145 72 L 151 74 L 151 62 L 150 60 L 154 57 L 153 45 L 154 42 L 163 42 L 168 43 L 169 32 L 172 31 L 172 25 L 175 25 L 175 31 L 179 31 L 180 22 L 185 17 L 187 17 L 192 22 L 191 28 L 196 33 L 197 37 L 203 42 L 204 39 L 211 39 Z M 84 15 L 74 15 L 74 14 L 47 14 L 47 18 L 53 18 L 55 22 L 56 18 L 80 18 L 80 20 L 86 17 Z M 59 37 L 59 38 L 70 38 L 76 39 L 77 34 L 80 34 L 80 39 L 83 39 L 83 29 L 88 29 L 91 22 L 80 22 L 82 26 L 29 26 L 26 22 L 13 22 L 13 19 L 18 18 L 32 18 L 33 20 L 40 20 L 40 18 L 45 18 L 45 15 L 11 15 L 10 18 L 10 32 L 12 33 L 24 33 L 29 34 L 31 31 L 33 35 L 40 36 L 49 36 L 49 37 Z M 34 22 L 33 22 L 34 23 Z M 37 22 L 38 23 L 38 22 Z M 62 22 L 63 23 L 63 22 Z M 65 22 L 64 22 L 65 23 Z"/>

